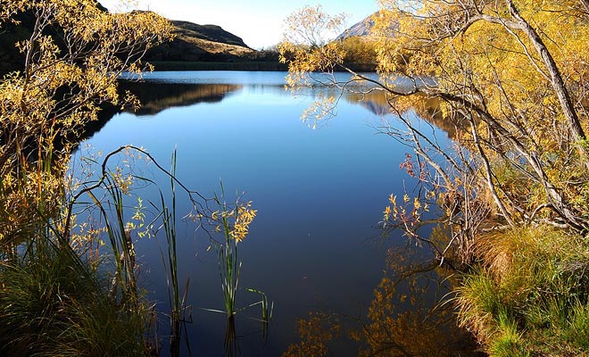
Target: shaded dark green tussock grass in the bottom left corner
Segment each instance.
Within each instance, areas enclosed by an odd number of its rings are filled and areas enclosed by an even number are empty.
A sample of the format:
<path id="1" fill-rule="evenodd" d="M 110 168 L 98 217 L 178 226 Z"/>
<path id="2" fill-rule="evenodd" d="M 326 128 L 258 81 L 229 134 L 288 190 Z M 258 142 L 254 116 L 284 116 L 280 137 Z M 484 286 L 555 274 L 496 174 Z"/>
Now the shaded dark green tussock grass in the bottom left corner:
<path id="1" fill-rule="evenodd" d="M 49 241 L 1 263 L 0 355 L 144 355 L 146 313 L 110 299 L 88 266 Z"/>

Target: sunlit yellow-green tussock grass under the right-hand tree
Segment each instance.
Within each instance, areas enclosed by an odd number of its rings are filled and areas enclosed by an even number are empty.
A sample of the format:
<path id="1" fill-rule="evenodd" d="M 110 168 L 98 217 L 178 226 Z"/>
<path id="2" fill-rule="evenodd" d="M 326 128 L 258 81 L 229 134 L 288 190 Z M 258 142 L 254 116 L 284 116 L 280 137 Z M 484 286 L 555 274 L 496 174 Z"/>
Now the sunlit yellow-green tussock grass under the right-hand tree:
<path id="1" fill-rule="evenodd" d="M 589 241 L 556 228 L 481 237 L 456 289 L 460 325 L 493 356 L 588 355 Z M 564 342 L 564 343 L 563 343 Z"/>

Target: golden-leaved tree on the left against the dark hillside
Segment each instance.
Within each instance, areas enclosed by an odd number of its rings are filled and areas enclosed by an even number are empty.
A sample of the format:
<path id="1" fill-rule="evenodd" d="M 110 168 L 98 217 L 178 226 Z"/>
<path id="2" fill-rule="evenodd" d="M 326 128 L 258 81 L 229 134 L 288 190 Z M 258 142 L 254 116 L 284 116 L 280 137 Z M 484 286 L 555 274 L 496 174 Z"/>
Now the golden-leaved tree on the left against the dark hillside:
<path id="1" fill-rule="evenodd" d="M 29 37 L 13 44 L 23 54 L 21 71 L 0 79 L 3 243 L 59 210 L 71 140 L 101 104 L 135 104 L 118 94 L 118 77 L 143 70 L 145 51 L 169 39 L 171 29 L 153 12 L 110 13 L 95 0 L 0 0 L 0 32 L 19 26 L 23 13 L 34 20 Z"/>

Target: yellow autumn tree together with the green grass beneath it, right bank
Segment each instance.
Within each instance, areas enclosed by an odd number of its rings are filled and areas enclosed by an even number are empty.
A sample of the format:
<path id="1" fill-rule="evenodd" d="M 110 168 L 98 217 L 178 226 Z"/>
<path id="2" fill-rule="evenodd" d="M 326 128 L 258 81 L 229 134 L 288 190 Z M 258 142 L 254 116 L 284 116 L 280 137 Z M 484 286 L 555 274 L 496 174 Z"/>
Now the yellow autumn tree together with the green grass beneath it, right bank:
<path id="1" fill-rule="evenodd" d="M 404 125 L 383 130 L 411 146 L 401 168 L 419 185 L 389 197 L 383 228 L 401 228 L 431 247 L 438 265 L 463 273 L 460 323 L 488 353 L 586 352 L 579 331 L 589 316 L 589 3 L 380 4 L 373 33 L 378 77 L 346 68 L 336 41 L 313 42 L 331 23 L 315 8 L 293 15 L 298 22 L 291 23 L 305 26 L 281 46 L 289 83 L 322 80 L 359 97 L 386 95 Z M 329 77 L 336 68 L 350 79 Z M 336 100 L 323 103 L 312 113 L 329 114 Z M 427 108 L 432 103 L 436 112 Z M 452 147 L 437 140 L 429 116 L 454 127 Z M 431 210 L 436 205 L 441 209 Z M 439 216 L 426 220 L 432 211 Z M 432 223 L 448 237 L 422 235 Z"/>

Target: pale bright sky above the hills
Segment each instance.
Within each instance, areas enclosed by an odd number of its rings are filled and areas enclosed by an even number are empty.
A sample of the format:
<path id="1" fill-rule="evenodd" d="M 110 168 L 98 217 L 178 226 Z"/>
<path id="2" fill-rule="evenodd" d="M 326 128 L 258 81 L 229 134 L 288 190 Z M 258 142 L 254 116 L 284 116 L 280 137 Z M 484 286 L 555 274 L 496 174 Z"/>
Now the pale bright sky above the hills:
<path id="1" fill-rule="evenodd" d="M 125 9 L 120 0 L 100 3 L 111 11 Z M 135 0 L 131 8 L 149 9 L 170 20 L 219 25 L 242 37 L 248 46 L 260 49 L 280 41 L 286 16 L 304 5 L 316 4 L 331 14 L 348 14 L 347 27 L 377 11 L 377 0 Z"/>

